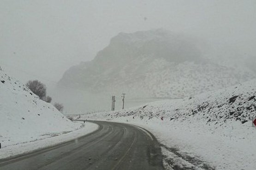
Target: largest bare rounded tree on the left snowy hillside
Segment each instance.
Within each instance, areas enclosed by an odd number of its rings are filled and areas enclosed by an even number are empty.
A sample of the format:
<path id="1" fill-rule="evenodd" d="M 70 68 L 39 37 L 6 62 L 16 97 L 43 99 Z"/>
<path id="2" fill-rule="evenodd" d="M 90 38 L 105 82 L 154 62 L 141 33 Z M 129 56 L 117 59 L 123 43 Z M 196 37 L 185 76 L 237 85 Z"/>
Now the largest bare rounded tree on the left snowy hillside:
<path id="1" fill-rule="evenodd" d="M 46 86 L 42 84 L 38 80 L 30 80 L 27 82 L 26 86 L 37 96 L 39 96 L 40 99 L 43 99 L 46 96 Z"/>

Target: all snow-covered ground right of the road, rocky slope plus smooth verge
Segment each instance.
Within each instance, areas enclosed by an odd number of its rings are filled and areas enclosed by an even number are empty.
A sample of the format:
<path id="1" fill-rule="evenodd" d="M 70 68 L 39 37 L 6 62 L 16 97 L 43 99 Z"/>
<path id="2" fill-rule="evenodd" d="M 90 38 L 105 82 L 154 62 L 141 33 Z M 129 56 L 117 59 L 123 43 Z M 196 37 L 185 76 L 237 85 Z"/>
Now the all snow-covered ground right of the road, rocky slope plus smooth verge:
<path id="1" fill-rule="evenodd" d="M 192 98 L 87 114 L 81 119 L 146 128 L 161 142 L 167 169 L 255 170 L 252 117 L 256 117 L 256 80 Z"/>

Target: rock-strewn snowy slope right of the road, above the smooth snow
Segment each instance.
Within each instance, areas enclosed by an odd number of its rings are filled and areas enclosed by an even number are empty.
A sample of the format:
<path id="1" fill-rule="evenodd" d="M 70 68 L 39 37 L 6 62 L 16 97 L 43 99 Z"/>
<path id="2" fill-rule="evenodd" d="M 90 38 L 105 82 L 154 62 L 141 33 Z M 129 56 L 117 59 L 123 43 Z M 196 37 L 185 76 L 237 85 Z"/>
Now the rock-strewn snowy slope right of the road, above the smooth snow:
<path id="1" fill-rule="evenodd" d="M 241 124 L 256 116 L 256 80 L 219 91 L 204 93 L 193 98 L 152 102 L 145 108 L 130 112 L 133 116 L 165 117 L 170 121 L 202 120 L 218 127 L 227 120 Z M 126 116 L 117 112 L 112 116 Z M 251 122 L 250 122 L 251 124 Z"/>

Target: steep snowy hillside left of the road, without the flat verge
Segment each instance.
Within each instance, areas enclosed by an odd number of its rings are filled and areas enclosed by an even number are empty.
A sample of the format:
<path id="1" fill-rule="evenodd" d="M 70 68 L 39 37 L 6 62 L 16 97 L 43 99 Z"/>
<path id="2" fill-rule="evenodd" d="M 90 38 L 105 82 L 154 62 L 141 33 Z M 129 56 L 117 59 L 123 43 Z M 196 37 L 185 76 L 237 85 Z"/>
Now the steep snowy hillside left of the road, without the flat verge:
<path id="1" fill-rule="evenodd" d="M 78 129 L 53 105 L 0 69 L 0 143 L 3 147 Z"/>

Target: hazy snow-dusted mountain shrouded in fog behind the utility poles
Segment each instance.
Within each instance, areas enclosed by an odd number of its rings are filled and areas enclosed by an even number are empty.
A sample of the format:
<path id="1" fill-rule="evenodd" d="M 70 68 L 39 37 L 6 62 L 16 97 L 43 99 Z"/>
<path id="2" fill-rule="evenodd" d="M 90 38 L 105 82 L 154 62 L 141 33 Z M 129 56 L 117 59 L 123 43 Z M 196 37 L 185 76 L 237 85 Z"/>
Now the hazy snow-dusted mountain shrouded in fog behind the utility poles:
<path id="1" fill-rule="evenodd" d="M 83 98 L 123 92 L 130 100 L 183 98 L 255 78 L 244 65 L 209 60 L 200 48 L 192 37 L 164 29 L 119 33 L 92 61 L 67 70 L 57 88 L 90 93 Z"/>

